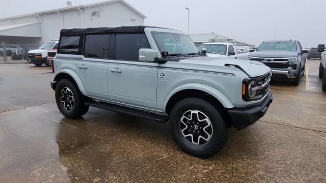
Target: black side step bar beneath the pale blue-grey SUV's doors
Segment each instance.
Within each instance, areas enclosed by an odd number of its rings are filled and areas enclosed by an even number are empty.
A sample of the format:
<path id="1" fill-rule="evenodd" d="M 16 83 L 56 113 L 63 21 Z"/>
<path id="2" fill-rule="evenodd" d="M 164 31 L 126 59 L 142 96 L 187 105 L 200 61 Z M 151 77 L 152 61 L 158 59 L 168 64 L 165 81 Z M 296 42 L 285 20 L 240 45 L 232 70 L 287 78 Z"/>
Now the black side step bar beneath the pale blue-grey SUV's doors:
<path id="1" fill-rule="evenodd" d="M 88 99 L 86 102 L 84 102 L 84 104 L 100 109 L 110 110 L 113 112 L 151 119 L 156 121 L 157 123 L 166 123 L 168 121 L 168 114 L 166 113 L 153 113 L 148 111 L 142 111 L 106 102 L 97 102 L 92 99 Z"/>

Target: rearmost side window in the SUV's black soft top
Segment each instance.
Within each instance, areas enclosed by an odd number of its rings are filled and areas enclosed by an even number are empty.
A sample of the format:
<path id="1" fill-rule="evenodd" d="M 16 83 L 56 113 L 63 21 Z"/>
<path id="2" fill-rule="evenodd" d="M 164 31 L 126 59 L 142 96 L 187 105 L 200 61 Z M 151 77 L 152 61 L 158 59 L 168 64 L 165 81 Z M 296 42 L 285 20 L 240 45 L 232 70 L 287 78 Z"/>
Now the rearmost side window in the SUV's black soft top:
<path id="1" fill-rule="evenodd" d="M 80 36 L 62 36 L 59 43 L 60 52 L 80 53 L 82 39 Z"/>

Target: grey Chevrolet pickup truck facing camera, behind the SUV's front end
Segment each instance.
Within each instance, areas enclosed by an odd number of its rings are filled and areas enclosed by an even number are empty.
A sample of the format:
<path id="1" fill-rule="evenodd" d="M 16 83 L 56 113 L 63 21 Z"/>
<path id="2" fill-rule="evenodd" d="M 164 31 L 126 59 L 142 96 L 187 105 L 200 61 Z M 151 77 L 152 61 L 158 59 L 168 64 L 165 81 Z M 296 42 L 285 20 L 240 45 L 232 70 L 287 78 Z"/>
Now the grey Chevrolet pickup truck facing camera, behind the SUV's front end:
<path id="1" fill-rule="evenodd" d="M 258 60 L 271 68 L 272 80 L 291 81 L 295 85 L 305 74 L 306 53 L 299 41 L 264 41 L 249 54 L 250 60 Z"/>

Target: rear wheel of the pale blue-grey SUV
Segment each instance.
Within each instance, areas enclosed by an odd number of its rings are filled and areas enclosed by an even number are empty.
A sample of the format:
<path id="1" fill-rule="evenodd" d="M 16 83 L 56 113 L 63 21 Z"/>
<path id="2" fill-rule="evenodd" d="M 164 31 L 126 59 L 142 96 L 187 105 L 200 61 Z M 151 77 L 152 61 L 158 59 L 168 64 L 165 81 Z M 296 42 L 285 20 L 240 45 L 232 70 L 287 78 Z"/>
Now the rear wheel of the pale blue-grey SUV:
<path id="1" fill-rule="evenodd" d="M 62 79 L 57 84 L 56 103 L 61 114 L 71 119 L 86 114 L 89 109 L 89 106 L 84 105 L 83 95 L 67 79 Z"/>

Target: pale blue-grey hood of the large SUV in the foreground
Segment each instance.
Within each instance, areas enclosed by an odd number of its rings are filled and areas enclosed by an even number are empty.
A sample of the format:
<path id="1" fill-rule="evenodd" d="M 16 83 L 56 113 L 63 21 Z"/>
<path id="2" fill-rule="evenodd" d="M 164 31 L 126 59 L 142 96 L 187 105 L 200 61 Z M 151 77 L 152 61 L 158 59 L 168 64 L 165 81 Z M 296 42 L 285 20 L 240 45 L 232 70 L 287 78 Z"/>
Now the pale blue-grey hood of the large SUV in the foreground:
<path id="1" fill-rule="evenodd" d="M 254 60 L 244 60 L 244 59 L 216 59 L 214 57 L 208 56 L 198 56 L 192 58 L 186 58 L 179 61 L 180 63 L 188 64 L 202 64 L 207 66 L 222 66 L 227 67 L 225 64 L 238 65 L 244 71 L 246 71 L 250 77 L 258 77 L 266 74 L 270 71 L 270 68 L 265 66 L 263 63 Z"/>

